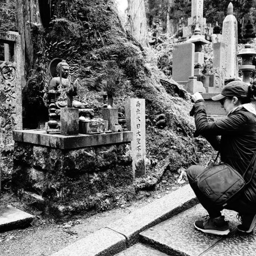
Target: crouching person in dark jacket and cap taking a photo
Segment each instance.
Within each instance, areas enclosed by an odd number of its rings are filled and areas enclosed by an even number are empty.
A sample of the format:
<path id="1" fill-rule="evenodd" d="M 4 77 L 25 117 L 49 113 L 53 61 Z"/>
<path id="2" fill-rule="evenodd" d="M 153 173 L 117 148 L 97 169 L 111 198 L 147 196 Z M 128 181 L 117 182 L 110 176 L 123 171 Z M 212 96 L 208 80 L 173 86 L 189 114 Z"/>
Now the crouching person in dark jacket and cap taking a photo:
<path id="1" fill-rule="evenodd" d="M 248 85 L 242 81 L 228 83 L 221 94 L 212 97 L 220 102 L 227 114 L 226 118 L 208 122 L 204 100 L 200 93 L 192 97 L 195 102 L 194 114 L 197 133 L 205 137 L 220 152 L 221 162 L 230 165 L 241 175 L 249 166 L 256 152 L 256 112 L 250 103 Z M 199 165 L 187 169 L 187 178 L 199 202 L 208 211 L 208 218 L 195 222 L 195 228 L 204 233 L 226 235 L 229 233 L 228 222 L 221 215 L 221 210 L 230 209 L 238 212 L 241 224 L 238 230 L 249 233 L 256 224 L 256 175 L 253 164 L 246 172 L 244 180 L 251 181 L 238 196 L 227 201 L 226 205 L 212 203 L 198 187 L 197 177 L 205 170 Z"/>

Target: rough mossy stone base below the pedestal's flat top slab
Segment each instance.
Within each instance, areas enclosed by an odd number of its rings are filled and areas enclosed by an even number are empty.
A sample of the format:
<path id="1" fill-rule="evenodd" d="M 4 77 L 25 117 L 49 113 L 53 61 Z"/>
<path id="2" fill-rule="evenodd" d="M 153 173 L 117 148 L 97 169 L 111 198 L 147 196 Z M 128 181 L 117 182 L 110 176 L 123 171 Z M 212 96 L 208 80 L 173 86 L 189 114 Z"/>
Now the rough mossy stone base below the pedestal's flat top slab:
<path id="1" fill-rule="evenodd" d="M 12 187 L 46 214 L 105 210 L 133 197 L 131 144 L 75 150 L 15 142 Z"/>

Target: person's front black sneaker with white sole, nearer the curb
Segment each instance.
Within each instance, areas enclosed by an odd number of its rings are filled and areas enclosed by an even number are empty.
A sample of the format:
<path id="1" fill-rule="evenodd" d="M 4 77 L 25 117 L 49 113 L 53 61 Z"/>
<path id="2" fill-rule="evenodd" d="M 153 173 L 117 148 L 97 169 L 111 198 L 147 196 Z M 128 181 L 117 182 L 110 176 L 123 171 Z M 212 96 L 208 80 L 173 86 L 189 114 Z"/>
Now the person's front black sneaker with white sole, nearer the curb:
<path id="1" fill-rule="evenodd" d="M 205 221 L 196 221 L 194 226 L 197 230 L 200 230 L 208 234 L 218 234 L 219 236 L 225 236 L 230 232 L 228 222 L 224 221 L 225 216 L 218 218 L 205 217 Z"/>

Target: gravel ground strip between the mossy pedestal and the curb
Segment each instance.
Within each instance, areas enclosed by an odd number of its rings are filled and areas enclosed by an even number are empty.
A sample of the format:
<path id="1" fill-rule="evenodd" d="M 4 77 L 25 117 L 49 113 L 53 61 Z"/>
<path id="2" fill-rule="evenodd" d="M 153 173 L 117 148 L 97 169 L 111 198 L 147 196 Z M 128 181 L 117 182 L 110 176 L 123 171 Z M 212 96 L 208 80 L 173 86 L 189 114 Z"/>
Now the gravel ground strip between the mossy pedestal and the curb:
<path id="1" fill-rule="evenodd" d="M 176 174 L 175 178 L 178 179 Z M 10 204 L 35 216 L 32 225 L 26 229 L 16 229 L 0 233 L 0 255 L 51 255 L 78 239 L 105 227 L 133 210 L 176 190 L 181 186 L 163 180 L 155 191 L 140 191 L 136 200 L 128 202 L 122 208 L 116 208 L 95 215 L 80 215 L 68 220 L 46 219 L 41 212 L 21 203 L 10 191 L 2 193 L 1 205 Z"/>

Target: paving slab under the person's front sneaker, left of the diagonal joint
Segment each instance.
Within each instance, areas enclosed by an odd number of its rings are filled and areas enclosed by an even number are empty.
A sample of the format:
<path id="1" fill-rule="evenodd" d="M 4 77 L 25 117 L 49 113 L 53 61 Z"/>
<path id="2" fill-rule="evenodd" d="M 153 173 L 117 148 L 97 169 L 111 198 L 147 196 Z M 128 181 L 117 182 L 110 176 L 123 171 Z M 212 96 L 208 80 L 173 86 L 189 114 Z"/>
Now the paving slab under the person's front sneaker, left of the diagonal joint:
<path id="1" fill-rule="evenodd" d="M 205 255 L 204 253 L 207 252 L 209 248 L 218 245 L 225 239 L 212 234 L 207 235 L 195 230 L 194 222 L 202 219 L 202 217 L 206 215 L 206 210 L 201 204 L 198 204 L 193 208 L 182 212 L 178 216 L 142 232 L 140 234 L 142 241 L 153 244 L 155 248 L 158 248 L 169 255 L 175 253 L 189 256 Z M 223 215 L 225 215 L 226 220 L 229 221 L 231 232 L 226 237 L 226 239 L 229 239 L 232 238 L 232 231 L 236 229 L 239 221 L 236 218 L 237 213 L 234 211 L 224 210 Z M 222 249 L 225 250 L 224 247 L 222 247 Z M 223 253 L 210 255 L 223 255 Z M 229 255 L 236 254 L 231 253 Z"/>

